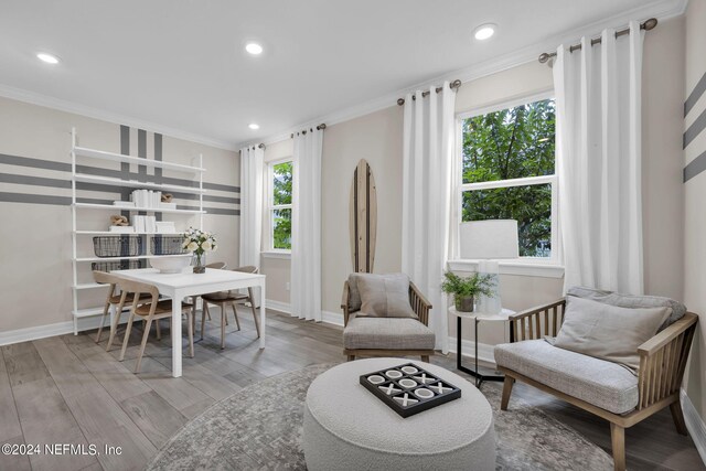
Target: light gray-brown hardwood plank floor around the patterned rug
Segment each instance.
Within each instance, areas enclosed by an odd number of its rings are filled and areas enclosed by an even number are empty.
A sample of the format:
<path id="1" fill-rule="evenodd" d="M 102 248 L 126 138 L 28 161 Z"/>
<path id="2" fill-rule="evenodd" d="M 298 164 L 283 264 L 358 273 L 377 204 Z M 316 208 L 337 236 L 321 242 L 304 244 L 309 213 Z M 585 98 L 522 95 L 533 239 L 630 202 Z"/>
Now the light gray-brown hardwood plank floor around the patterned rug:
<path id="1" fill-rule="evenodd" d="M 242 331 L 233 332 L 231 322 L 223 351 L 220 323 L 206 323 L 195 357 L 184 357 L 181 378 L 170 375 L 167 321 L 162 341 L 151 336 L 138 375 L 132 368 L 141 324 L 122 363 L 117 361 L 117 346 L 106 353 L 105 341 L 94 342 L 95 332 L 1 347 L 0 442 L 72 443 L 86 450 L 95 445 L 101 452 L 108 445 L 121 447 L 121 454 L 46 456 L 42 449 L 29 458 L 0 456 L 0 470 L 139 470 L 183 424 L 215 402 L 268 376 L 345 360 L 341 328 L 268 311 L 267 349 L 260 351 L 252 315 L 243 311 L 239 319 Z M 431 361 L 456 371 L 453 355 Z M 513 397 L 539 407 L 610 452 L 608 422 L 522 384 L 514 387 Z M 512 414 L 512 407 L 511 399 L 503 414 Z M 631 470 L 706 470 L 692 440 L 675 432 L 668 411 L 628 429 L 625 440 Z"/>

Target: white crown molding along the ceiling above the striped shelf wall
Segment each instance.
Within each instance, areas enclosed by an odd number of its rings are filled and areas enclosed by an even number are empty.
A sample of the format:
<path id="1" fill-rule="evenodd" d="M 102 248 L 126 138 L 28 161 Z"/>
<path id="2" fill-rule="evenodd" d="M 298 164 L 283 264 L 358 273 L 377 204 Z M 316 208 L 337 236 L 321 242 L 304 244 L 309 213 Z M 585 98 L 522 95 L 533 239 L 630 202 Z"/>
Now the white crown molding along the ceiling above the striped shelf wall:
<path id="1" fill-rule="evenodd" d="M 8 85 L 0 84 L 0 96 L 10 98 L 10 99 L 15 99 L 18 101 L 29 103 L 31 105 L 43 106 L 46 108 L 52 108 L 52 109 L 56 109 L 65 113 L 72 113 L 72 114 L 85 116 L 88 118 L 100 119 L 103 121 L 115 122 L 118 125 L 130 126 L 132 128 L 145 129 L 150 132 L 159 132 L 161 135 L 169 136 L 172 138 L 183 139 L 186 141 L 196 142 L 204 146 L 214 147 L 217 149 L 225 149 L 231 151 L 237 150 L 237 147 L 234 147 L 232 142 L 212 139 L 206 136 L 194 135 L 181 129 L 157 125 L 154 122 L 145 121 L 142 119 L 137 119 L 129 116 L 124 116 L 116 113 L 93 108 L 86 105 L 81 105 L 81 104 L 64 100 L 61 98 L 54 98 L 47 95 L 42 95 L 34 92 L 25 90 L 22 88 L 11 87 Z"/>

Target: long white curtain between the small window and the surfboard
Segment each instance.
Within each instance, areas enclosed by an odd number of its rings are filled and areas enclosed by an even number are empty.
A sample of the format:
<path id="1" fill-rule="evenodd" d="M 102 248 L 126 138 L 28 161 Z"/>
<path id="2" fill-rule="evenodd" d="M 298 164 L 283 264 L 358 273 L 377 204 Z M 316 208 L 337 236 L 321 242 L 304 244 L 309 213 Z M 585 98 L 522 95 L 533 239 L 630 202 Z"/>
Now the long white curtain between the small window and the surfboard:
<path id="1" fill-rule="evenodd" d="M 323 130 L 295 136 L 291 314 L 321 321 L 321 148 Z"/>

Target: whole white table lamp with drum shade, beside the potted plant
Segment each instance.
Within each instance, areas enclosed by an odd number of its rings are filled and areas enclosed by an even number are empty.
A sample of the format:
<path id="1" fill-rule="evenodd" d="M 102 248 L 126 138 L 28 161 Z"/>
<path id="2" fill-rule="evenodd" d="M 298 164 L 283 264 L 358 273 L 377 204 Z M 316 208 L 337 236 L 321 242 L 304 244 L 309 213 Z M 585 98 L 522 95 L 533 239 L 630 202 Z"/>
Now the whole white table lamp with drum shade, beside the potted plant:
<path id="1" fill-rule="evenodd" d="M 478 272 L 493 275 L 493 295 L 481 296 L 477 309 L 499 314 L 500 301 L 499 259 L 518 258 L 517 221 L 486 220 L 461 223 L 460 249 L 462 259 L 478 259 Z"/>

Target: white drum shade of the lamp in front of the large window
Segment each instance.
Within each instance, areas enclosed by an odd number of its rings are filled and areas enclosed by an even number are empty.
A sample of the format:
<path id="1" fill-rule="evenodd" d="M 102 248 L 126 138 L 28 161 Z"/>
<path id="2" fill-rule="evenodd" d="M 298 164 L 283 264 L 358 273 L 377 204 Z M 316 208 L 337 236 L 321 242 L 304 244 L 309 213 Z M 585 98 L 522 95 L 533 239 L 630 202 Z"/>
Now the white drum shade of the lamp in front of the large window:
<path id="1" fill-rule="evenodd" d="M 463 259 L 517 258 L 517 221 L 488 220 L 461 223 L 460 246 Z"/>

